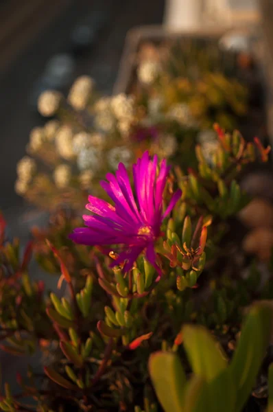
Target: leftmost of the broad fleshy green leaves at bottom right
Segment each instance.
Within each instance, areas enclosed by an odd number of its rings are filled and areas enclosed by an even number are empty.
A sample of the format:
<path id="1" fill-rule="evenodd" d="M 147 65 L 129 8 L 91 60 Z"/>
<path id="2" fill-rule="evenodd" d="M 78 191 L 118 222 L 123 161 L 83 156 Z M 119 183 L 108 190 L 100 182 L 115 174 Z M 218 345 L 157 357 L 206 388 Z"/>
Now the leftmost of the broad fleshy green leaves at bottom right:
<path id="1" fill-rule="evenodd" d="M 165 412 L 182 412 L 186 376 L 178 356 L 156 352 L 150 356 L 149 371 L 156 396 Z"/>

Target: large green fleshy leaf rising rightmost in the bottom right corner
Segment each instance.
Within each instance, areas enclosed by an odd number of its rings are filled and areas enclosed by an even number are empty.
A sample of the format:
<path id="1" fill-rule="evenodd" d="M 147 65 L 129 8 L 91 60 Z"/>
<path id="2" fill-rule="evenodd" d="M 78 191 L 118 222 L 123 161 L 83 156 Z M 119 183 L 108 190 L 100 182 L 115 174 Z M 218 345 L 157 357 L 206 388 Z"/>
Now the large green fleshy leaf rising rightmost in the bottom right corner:
<path id="1" fill-rule="evenodd" d="M 260 301 L 250 309 L 241 331 L 239 344 L 230 364 L 237 387 L 235 411 L 241 411 L 248 399 L 265 356 L 272 334 L 273 305 Z"/>

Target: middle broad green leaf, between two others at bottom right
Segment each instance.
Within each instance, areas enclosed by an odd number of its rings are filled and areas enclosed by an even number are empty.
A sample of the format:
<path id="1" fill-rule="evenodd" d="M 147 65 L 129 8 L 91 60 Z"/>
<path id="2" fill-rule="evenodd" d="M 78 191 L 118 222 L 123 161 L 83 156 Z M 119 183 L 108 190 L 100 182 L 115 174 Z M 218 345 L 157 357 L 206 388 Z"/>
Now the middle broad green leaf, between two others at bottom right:
<path id="1" fill-rule="evenodd" d="M 226 368 L 224 352 L 206 329 L 201 326 L 186 325 L 182 329 L 182 334 L 194 374 L 210 382 Z"/>

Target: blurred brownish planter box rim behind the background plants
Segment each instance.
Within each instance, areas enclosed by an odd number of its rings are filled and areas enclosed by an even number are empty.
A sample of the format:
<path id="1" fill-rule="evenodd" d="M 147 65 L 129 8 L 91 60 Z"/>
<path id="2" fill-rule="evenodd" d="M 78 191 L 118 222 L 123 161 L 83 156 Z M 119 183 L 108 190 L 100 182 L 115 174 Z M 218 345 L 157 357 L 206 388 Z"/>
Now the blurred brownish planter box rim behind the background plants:
<path id="1" fill-rule="evenodd" d="M 224 34 L 239 34 L 246 38 L 246 42 L 250 47 L 250 54 L 255 66 L 255 75 L 253 78 L 259 86 L 261 86 L 262 97 L 259 95 L 261 100 L 261 107 L 258 109 L 261 111 L 261 117 L 263 120 L 261 124 L 257 125 L 257 128 L 251 124 L 252 113 L 249 113 L 248 119 L 250 122 L 250 128 L 252 128 L 254 135 L 259 135 L 263 140 L 270 140 L 273 143 L 273 99 L 272 99 L 272 89 L 273 89 L 273 76 L 270 73 L 270 54 L 268 53 L 268 45 L 264 41 L 263 33 L 259 27 L 256 27 L 254 32 L 250 32 L 248 29 L 228 29 L 228 30 L 198 30 L 198 31 L 182 31 L 182 32 L 170 32 L 162 26 L 143 26 L 136 27 L 130 32 L 126 38 L 126 44 L 123 51 L 123 56 L 121 58 L 121 63 L 119 67 L 119 73 L 117 76 L 117 82 L 113 89 L 113 93 L 128 93 L 132 92 L 132 89 L 136 86 L 137 79 L 137 67 L 139 65 L 139 51 L 143 43 L 152 43 L 155 47 L 162 45 L 167 42 L 177 42 L 185 41 L 185 39 L 190 41 L 203 41 L 204 43 L 217 44 L 219 40 L 224 36 Z M 226 50 L 226 53 L 230 55 L 230 51 Z M 231 52 L 237 54 L 236 52 Z M 235 60 L 234 60 L 235 61 Z M 273 61 L 273 59 L 272 59 Z M 270 79 L 271 75 L 271 79 Z M 254 110 L 256 111 L 256 109 Z M 256 111 L 257 112 L 257 111 Z M 246 125 L 244 125 L 246 126 Z M 244 133 L 244 126 L 242 126 L 241 131 Z M 265 131 L 266 130 L 266 131 Z M 247 133 L 248 134 L 248 133 Z"/>

